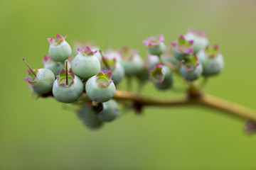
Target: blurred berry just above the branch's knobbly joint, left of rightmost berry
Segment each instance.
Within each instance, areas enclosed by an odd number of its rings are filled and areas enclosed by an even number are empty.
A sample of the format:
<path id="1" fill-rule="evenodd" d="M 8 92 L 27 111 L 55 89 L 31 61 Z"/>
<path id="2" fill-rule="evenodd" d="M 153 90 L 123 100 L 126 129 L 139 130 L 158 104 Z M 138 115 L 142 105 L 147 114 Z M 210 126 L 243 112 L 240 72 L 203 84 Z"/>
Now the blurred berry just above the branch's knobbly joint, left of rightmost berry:
<path id="1" fill-rule="evenodd" d="M 196 55 L 193 55 L 190 59 L 180 62 L 181 75 L 188 81 L 193 81 L 201 77 L 203 73 L 202 64 L 198 61 Z"/>

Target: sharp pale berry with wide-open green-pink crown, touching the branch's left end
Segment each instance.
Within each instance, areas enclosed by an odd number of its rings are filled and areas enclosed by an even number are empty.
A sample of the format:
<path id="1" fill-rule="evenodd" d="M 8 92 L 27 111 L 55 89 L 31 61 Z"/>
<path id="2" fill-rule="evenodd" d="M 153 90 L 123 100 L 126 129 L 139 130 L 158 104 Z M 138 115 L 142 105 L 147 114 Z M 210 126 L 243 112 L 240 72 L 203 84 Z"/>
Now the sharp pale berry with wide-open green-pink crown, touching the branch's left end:
<path id="1" fill-rule="evenodd" d="M 91 77 L 85 84 L 87 96 L 92 101 L 105 102 L 109 101 L 116 91 L 112 81 L 112 73 L 99 72 L 96 76 Z"/>

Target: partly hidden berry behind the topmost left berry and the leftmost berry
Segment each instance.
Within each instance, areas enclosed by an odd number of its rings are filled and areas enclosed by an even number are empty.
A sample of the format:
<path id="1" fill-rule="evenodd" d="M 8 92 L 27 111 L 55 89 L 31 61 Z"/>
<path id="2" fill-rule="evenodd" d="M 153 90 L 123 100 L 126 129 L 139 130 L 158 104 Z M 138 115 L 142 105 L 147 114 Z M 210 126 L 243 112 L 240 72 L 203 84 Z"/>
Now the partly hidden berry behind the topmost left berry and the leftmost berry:
<path id="1" fill-rule="evenodd" d="M 43 67 L 46 69 L 50 69 L 50 71 L 52 71 L 53 74 L 55 74 L 56 76 L 63 69 L 63 64 L 61 64 L 60 62 L 54 62 L 50 59 L 50 56 L 45 55 L 45 57 L 43 57 Z"/>

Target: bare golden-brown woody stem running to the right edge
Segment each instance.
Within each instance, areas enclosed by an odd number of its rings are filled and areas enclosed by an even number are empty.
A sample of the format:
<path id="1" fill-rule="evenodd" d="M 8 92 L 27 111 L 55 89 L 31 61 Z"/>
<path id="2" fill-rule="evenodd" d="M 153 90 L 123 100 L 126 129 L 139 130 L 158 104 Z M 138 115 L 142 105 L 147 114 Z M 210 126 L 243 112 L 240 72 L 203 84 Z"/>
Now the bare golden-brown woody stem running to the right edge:
<path id="1" fill-rule="evenodd" d="M 251 120 L 256 123 L 256 112 L 245 106 L 240 106 L 237 103 L 225 101 L 222 98 L 203 94 L 196 99 L 191 98 L 156 98 L 133 94 L 127 91 L 116 91 L 113 97 L 117 101 L 132 101 L 141 106 L 184 106 L 184 105 L 198 105 L 206 106 L 208 108 L 215 108 L 220 111 L 225 111 L 238 118 Z"/>

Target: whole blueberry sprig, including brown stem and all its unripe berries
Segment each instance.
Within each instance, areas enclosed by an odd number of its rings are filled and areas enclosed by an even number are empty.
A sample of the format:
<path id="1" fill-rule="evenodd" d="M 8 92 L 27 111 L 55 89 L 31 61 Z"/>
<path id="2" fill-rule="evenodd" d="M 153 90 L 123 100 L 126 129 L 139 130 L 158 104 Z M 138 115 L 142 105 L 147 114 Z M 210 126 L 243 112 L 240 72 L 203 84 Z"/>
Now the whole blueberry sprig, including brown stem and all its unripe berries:
<path id="1" fill-rule="evenodd" d="M 43 57 L 42 69 L 31 69 L 28 63 L 28 82 L 33 93 L 41 97 L 53 96 L 62 103 L 79 107 L 78 115 L 88 128 L 100 128 L 120 115 L 119 106 L 141 113 L 145 106 L 204 106 L 216 108 L 249 121 L 247 131 L 256 129 L 256 113 L 238 104 L 204 94 L 203 86 L 210 77 L 224 67 L 218 45 L 210 45 L 207 34 L 190 29 L 169 45 L 164 35 L 149 37 L 142 43 L 147 47 L 143 60 L 137 50 L 100 50 L 91 42 L 75 42 L 71 49 L 67 35 L 48 38 L 49 53 Z M 75 57 L 72 57 L 75 56 Z M 175 77 L 174 77 L 175 75 Z M 127 79 L 127 89 L 117 85 Z M 183 98 L 158 98 L 140 95 L 142 87 L 151 81 L 155 89 L 177 91 L 175 79 L 185 87 Z M 131 92 L 137 80 L 138 94 Z"/>

